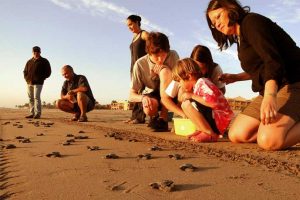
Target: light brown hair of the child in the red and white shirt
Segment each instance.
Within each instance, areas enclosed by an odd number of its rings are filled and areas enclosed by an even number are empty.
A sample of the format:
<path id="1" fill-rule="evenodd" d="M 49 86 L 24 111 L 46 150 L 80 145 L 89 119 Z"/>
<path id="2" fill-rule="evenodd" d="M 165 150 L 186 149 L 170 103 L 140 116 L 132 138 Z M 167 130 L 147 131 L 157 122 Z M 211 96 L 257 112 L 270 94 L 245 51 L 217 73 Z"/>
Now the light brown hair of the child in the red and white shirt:
<path id="1" fill-rule="evenodd" d="M 172 74 L 175 81 L 188 80 L 189 76 L 193 76 L 195 79 L 203 77 L 199 65 L 191 58 L 178 60 Z"/>

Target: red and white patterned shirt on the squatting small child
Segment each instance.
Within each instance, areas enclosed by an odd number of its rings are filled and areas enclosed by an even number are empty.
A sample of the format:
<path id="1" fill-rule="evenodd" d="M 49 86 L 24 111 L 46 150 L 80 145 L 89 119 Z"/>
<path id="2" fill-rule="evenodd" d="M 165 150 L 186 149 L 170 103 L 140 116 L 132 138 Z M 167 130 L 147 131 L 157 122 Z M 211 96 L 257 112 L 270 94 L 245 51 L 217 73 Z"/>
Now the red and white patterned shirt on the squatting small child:
<path id="1" fill-rule="evenodd" d="M 223 135 L 234 115 L 223 93 L 209 79 L 199 78 L 194 86 L 194 94 L 213 105 L 212 115 Z"/>

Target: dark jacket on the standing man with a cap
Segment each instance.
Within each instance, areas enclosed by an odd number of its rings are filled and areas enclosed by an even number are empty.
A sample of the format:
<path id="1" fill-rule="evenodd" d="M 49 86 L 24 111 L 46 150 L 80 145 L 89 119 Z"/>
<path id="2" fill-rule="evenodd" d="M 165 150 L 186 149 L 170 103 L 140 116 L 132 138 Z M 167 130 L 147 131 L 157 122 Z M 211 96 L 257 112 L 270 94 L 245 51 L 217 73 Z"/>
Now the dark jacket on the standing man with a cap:
<path id="1" fill-rule="evenodd" d="M 27 61 L 24 69 L 24 78 L 27 84 L 43 85 L 44 80 L 51 75 L 51 66 L 46 58 L 31 58 Z"/>

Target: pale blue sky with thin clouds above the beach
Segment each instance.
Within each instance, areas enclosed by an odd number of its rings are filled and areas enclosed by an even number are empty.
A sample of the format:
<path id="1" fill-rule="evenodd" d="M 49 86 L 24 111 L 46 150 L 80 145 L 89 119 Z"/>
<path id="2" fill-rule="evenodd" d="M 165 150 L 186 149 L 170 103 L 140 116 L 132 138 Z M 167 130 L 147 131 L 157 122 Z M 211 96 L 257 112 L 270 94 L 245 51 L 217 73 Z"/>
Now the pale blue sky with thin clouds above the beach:
<path id="1" fill-rule="evenodd" d="M 23 70 L 32 57 L 32 47 L 51 64 L 42 101 L 60 97 L 65 64 L 85 75 L 96 100 L 108 104 L 126 100 L 130 85 L 132 33 L 126 26 L 131 14 L 142 17 L 142 29 L 160 31 L 169 37 L 171 49 L 180 58 L 189 57 L 194 46 L 206 45 L 224 73 L 242 72 L 236 46 L 220 52 L 205 19 L 209 0 L 0 0 L 0 107 L 28 102 Z M 279 24 L 300 42 L 299 0 L 241 0 L 252 12 Z M 227 85 L 226 97 L 247 99 L 257 94 L 251 82 Z"/>

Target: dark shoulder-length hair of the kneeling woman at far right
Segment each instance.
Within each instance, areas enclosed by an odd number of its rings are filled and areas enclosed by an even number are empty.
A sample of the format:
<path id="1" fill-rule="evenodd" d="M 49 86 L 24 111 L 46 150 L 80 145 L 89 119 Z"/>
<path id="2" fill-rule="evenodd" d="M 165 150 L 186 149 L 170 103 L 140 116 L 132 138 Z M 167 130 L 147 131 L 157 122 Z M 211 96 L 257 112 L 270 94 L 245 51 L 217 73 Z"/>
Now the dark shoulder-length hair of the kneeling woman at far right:
<path id="1" fill-rule="evenodd" d="M 231 46 L 233 43 L 235 43 L 237 41 L 237 38 L 234 35 L 225 35 L 213 27 L 213 24 L 208 17 L 208 13 L 219 8 L 224 8 L 228 11 L 228 26 L 232 26 L 236 23 L 241 24 L 243 18 L 250 12 L 250 7 L 242 7 L 238 0 L 211 0 L 209 2 L 206 9 L 207 24 L 214 39 L 218 43 L 220 50 L 223 50 L 227 49 L 228 46 Z"/>

